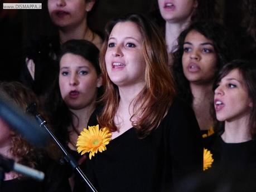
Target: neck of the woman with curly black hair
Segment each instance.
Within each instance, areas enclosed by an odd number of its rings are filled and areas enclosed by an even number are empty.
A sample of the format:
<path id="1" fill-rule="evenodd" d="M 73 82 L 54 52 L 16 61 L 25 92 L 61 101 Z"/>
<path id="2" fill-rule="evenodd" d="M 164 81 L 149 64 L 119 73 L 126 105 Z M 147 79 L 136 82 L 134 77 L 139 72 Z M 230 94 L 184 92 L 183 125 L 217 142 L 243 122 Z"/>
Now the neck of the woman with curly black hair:
<path id="1" fill-rule="evenodd" d="M 202 103 L 202 101 L 211 102 L 214 101 L 214 92 L 212 91 L 212 84 L 209 85 L 196 85 L 190 83 L 190 89 L 194 97 L 193 104 Z"/>

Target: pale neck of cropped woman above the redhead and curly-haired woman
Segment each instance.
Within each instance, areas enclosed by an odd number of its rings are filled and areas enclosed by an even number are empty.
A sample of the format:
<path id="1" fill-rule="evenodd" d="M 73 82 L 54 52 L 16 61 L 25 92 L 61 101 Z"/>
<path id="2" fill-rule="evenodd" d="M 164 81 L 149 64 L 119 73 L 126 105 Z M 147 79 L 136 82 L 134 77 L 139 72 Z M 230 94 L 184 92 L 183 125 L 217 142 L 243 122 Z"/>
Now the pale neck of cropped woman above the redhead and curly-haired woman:
<path id="1" fill-rule="evenodd" d="M 168 53 L 175 51 L 175 46 L 177 45 L 177 38 L 180 33 L 189 25 L 190 19 L 183 22 L 166 22 L 165 25 L 165 40 L 167 45 Z"/>

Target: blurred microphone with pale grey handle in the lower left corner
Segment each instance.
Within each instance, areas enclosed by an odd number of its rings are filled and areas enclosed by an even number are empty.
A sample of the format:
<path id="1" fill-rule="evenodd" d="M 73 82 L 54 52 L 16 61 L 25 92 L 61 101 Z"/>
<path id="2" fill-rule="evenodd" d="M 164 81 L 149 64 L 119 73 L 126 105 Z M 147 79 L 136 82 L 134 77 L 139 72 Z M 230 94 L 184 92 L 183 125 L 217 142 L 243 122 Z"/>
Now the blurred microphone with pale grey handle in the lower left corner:
<path id="1" fill-rule="evenodd" d="M 0 155 L 0 167 L 3 168 L 6 173 L 13 170 L 17 173 L 36 179 L 38 181 L 42 181 L 45 178 L 45 174 L 42 171 L 38 171 L 29 168 L 28 166 L 15 163 L 13 159 L 8 159 L 2 155 Z"/>

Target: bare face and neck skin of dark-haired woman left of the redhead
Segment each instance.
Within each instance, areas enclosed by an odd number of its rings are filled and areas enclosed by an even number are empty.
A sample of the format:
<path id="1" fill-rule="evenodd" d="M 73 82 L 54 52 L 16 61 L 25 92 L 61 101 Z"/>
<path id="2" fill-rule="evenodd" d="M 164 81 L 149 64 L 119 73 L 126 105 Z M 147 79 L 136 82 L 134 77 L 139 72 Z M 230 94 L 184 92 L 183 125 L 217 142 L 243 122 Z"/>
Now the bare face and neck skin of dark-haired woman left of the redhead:
<path id="1" fill-rule="evenodd" d="M 102 77 L 97 75 L 93 65 L 84 57 L 66 53 L 60 60 L 59 85 L 62 98 L 74 114 L 73 124 L 80 133 L 87 127 L 95 109 L 97 87 L 102 86 Z M 69 130 L 68 146 L 76 150 L 78 134 L 71 126 Z"/>

